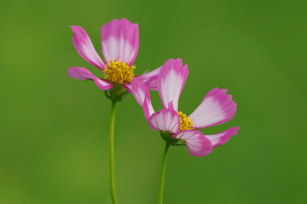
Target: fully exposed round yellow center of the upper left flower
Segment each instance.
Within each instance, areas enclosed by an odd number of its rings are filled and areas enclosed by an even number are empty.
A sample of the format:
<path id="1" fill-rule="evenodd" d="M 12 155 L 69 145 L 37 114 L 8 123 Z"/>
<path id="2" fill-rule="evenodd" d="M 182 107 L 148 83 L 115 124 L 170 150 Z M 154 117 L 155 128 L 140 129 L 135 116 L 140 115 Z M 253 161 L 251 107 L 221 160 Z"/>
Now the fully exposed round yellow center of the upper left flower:
<path id="1" fill-rule="evenodd" d="M 104 68 L 106 80 L 111 83 L 119 82 L 119 83 L 129 83 L 134 77 L 133 69 L 135 65 L 128 66 L 128 61 L 110 61 L 109 64 Z"/>

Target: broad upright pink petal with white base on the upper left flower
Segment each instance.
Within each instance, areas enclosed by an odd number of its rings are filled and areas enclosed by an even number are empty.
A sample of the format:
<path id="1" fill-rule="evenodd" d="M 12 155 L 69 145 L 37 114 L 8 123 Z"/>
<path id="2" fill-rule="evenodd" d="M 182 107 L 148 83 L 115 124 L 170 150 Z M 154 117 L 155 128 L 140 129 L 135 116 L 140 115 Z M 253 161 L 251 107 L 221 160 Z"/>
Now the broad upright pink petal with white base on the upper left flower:
<path id="1" fill-rule="evenodd" d="M 101 28 L 101 50 L 104 59 L 121 60 L 131 66 L 138 54 L 138 24 L 127 19 L 112 20 Z"/>

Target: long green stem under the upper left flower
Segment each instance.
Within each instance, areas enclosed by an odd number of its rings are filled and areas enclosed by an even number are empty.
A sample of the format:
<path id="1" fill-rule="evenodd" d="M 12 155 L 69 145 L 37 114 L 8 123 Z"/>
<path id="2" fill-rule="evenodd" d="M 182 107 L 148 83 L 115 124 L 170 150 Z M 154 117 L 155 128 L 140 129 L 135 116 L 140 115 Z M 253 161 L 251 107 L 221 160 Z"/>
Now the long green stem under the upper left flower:
<path id="1" fill-rule="evenodd" d="M 115 194 L 115 179 L 114 179 L 114 123 L 115 123 L 115 101 L 112 101 L 111 119 L 110 119 L 110 187 L 113 204 L 117 204 Z"/>

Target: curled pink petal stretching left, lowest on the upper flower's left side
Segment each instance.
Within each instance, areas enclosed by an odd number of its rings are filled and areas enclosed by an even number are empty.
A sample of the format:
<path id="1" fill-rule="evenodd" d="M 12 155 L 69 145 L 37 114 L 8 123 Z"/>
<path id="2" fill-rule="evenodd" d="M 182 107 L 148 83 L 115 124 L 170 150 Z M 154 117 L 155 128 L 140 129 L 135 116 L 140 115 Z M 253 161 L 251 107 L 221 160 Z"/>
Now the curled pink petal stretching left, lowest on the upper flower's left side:
<path id="1" fill-rule="evenodd" d="M 107 80 L 97 78 L 96 76 L 94 76 L 94 74 L 92 74 L 85 68 L 70 67 L 67 69 L 67 74 L 68 76 L 75 79 L 94 80 L 95 84 L 102 90 L 109 90 L 110 88 L 113 87 L 112 83 L 109 83 Z"/>

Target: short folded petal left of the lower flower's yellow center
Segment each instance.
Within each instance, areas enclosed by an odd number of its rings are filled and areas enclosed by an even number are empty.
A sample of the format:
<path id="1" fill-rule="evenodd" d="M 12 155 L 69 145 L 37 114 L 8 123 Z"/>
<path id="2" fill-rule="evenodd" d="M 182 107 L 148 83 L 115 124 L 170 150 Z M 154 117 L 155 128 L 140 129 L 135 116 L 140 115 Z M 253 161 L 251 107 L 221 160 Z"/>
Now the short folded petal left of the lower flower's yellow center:
<path id="1" fill-rule="evenodd" d="M 159 110 L 157 113 L 153 113 L 147 121 L 153 130 L 179 132 L 179 115 L 172 109 Z"/>

